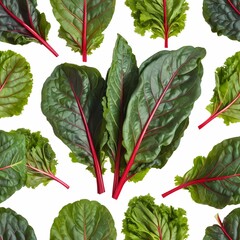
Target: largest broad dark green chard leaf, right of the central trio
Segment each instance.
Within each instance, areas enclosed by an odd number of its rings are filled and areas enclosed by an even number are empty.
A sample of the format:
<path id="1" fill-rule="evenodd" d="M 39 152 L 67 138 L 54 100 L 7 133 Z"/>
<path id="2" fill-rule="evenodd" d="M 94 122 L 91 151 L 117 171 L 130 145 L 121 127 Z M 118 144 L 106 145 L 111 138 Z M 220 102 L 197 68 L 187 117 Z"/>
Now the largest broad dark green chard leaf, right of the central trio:
<path id="1" fill-rule="evenodd" d="M 163 167 L 167 158 L 159 157 L 167 156 L 167 146 L 169 155 L 176 149 L 200 95 L 204 56 L 204 49 L 189 46 L 161 51 L 141 65 L 139 86 L 129 101 L 123 125 L 127 166 L 114 197 L 130 177 Z M 174 148 L 170 147 L 173 143 Z"/>

